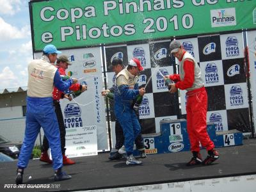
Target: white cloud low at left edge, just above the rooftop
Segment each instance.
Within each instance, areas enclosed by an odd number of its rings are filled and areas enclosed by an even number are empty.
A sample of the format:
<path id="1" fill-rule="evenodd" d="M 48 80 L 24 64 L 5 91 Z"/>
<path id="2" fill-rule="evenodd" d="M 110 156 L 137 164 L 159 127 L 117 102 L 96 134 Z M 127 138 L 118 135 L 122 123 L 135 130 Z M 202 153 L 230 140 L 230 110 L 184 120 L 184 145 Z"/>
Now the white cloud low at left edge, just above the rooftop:
<path id="1" fill-rule="evenodd" d="M 19 87 L 18 78 L 14 75 L 10 67 L 4 67 L 0 73 L 1 88 L 17 88 Z"/>

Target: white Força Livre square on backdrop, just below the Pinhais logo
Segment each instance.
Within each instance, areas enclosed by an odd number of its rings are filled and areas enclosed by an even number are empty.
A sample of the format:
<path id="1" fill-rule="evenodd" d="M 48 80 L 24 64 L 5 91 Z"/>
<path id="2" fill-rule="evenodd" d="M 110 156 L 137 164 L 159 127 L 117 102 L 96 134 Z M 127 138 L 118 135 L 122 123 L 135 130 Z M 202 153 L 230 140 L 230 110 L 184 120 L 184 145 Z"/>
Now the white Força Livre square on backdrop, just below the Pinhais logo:
<path id="1" fill-rule="evenodd" d="M 220 35 L 221 56 L 223 60 L 244 57 L 243 34 Z"/>

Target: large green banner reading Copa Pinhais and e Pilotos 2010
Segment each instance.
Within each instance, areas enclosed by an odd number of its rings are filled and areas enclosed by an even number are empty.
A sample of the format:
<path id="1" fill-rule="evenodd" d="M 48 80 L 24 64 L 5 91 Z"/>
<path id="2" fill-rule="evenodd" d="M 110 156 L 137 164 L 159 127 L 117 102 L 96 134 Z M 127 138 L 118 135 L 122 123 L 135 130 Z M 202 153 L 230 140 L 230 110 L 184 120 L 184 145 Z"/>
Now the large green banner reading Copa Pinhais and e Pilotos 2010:
<path id="1" fill-rule="evenodd" d="M 255 1 L 30 2 L 35 51 L 256 28 Z M 254 13 L 254 14 L 253 14 Z"/>

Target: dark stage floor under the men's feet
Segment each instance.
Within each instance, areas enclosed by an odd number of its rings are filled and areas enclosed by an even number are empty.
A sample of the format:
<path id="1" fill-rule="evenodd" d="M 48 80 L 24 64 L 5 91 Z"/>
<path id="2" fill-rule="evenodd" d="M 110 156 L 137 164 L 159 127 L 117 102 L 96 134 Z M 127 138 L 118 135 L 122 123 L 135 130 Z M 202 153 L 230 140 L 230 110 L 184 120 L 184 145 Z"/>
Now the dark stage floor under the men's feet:
<path id="1" fill-rule="evenodd" d="M 244 145 L 218 148 L 220 159 L 209 166 L 186 166 L 191 158 L 190 152 L 148 155 L 146 159 L 142 159 L 143 164 L 137 166 L 126 165 L 125 159 L 109 161 L 108 153 L 77 157 L 74 158 L 76 164 L 63 168 L 72 175 L 72 179 L 61 182 L 53 181 L 51 165 L 34 159 L 24 172 L 26 186 L 23 189 L 4 188 L 5 184 L 15 184 L 17 162 L 0 163 L 0 191 L 86 191 L 255 175 L 256 140 L 246 139 L 243 143 Z M 202 150 L 202 156 L 207 156 L 205 150 Z M 49 188 L 29 189 L 28 187 L 33 187 L 31 184 L 48 184 Z"/>

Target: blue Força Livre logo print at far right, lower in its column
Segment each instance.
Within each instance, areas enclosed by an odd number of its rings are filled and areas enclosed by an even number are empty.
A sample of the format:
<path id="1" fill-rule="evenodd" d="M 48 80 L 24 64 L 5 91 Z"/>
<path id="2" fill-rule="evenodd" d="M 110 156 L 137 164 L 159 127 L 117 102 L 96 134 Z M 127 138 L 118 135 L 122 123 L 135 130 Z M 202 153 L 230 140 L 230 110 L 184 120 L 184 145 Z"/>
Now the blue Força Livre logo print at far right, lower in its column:
<path id="1" fill-rule="evenodd" d="M 230 106 L 243 106 L 243 90 L 239 85 L 233 85 L 230 88 Z"/>

